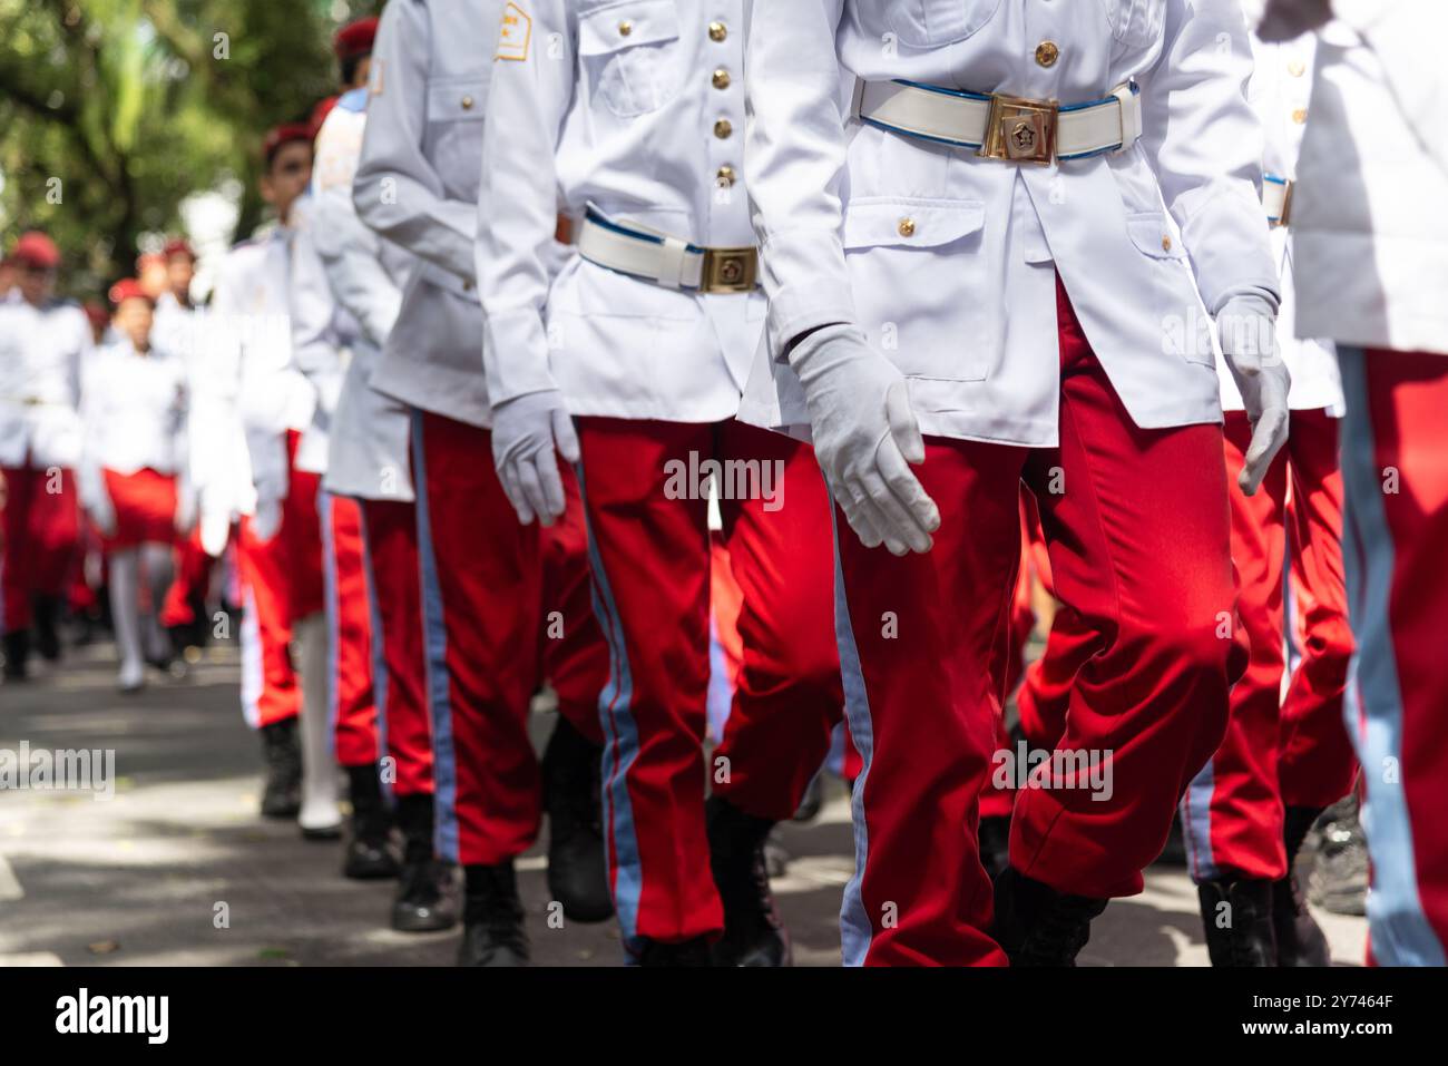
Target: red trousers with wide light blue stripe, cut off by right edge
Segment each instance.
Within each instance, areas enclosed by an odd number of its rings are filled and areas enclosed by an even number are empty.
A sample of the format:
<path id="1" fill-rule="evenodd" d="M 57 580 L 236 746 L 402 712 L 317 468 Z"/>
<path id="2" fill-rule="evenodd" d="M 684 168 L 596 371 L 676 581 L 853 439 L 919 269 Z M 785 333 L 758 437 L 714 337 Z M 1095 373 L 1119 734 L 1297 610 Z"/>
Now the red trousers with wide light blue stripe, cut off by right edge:
<path id="1" fill-rule="evenodd" d="M 1344 556 L 1358 653 L 1347 723 L 1363 762 L 1373 956 L 1442 966 L 1448 944 L 1448 355 L 1338 349 L 1348 413 Z"/>

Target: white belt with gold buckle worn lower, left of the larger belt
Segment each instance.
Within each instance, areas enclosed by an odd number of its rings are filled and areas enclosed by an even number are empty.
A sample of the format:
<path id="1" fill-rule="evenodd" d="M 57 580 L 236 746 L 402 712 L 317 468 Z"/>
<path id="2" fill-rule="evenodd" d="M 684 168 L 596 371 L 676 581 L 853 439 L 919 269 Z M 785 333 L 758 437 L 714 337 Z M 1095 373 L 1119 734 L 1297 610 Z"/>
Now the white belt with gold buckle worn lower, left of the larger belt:
<path id="1" fill-rule="evenodd" d="M 597 266 L 666 288 L 752 293 L 759 284 L 759 252 L 753 248 L 699 248 L 634 223 L 611 222 L 594 207 L 584 216 L 578 253 Z"/>

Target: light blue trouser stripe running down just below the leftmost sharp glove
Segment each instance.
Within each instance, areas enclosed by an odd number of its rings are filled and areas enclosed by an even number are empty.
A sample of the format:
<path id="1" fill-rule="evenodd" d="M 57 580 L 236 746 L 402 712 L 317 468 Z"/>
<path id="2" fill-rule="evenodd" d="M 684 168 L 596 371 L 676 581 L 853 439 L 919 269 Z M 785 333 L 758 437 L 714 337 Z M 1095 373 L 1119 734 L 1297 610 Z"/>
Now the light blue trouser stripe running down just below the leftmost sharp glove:
<path id="1" fill-rule="evenodd" d="M 639 836 L 628 798 L 628 771 L 639 757 L 639 723 L 633 720 L 633 672 L 628 668 L 628 647 L 618 618 L 614 592 L 598 555 L 598 539 L 588 520 L 588 487 L 584 463 L 575 463 L 578 491 L 584 503 L 588 527 L 588 562 L 594 569 L 594 616 L 608 645 L 608 684 L 598 694 L 598 718 L 604 727 L 604 844 L 614 875 L 614 911 L 623 931 L 624 947 L 631 950 L 639 939 L 639 898 L 643 892 L 643 865 L 639 859 Z"/>

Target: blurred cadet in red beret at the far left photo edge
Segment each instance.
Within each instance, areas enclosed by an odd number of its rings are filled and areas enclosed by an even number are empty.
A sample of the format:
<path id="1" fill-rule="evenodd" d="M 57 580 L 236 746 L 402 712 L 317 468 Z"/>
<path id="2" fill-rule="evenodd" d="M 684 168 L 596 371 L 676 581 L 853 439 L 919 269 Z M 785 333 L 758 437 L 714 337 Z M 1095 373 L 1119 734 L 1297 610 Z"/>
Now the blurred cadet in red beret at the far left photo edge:
<path id="1" fill-rule="evenodd" d="M 41 658 L 61 656 L 61 607 L 80 537 L 81 364 L 90 323 L 55 298 L 61 252 L 45 233 L 10 251 L 19 298 L 0 303 L 0 472 L 7 485 L 0 614 L 4 676 L 26 678 L 30 634 Z"/>

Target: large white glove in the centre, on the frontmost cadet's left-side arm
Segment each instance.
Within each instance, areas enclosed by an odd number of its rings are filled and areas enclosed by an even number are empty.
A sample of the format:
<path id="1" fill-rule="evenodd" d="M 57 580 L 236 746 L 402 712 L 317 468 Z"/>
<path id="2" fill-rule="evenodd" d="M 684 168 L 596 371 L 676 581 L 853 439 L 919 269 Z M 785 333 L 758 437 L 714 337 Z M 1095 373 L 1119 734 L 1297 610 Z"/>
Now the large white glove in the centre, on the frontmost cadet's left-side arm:
<path id="1" fill-rule="evenodd" d="M 853 326 L 825 326 L 789 353 L 809 406 L 815 458 L 866 547 L 928 552 L 940 510 L 909 469 L 925 440 L 905 377 Z"/>

